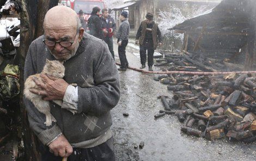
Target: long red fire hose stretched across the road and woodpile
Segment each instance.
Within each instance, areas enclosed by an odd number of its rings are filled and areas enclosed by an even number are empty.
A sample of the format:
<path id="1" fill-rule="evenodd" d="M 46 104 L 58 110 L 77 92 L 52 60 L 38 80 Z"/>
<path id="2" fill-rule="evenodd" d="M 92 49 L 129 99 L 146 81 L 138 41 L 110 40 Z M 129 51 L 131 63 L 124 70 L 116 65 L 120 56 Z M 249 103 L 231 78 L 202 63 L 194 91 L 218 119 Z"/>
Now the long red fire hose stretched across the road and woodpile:
<path id="1" fill-rule="evenodd" d="M 117 65 L 121 65 L 120 63 L 115 63 Z M 236 72 L 188 72 L 188 71 L 146 71 L 146 70 L 142 70 L 142 69 L 137 69 L 135 67 L 131 67 L 129 66 L 128 69 L 131 70 L 135 70 L 138 72 L 142 72 L 142 73 L 149 73 L 149 74 L 153 74 L 153 75 L 169 75 L 169 74 L 185 74 L 185 75 L 204 75 L 204 76 L 209 76 L 209 75 L 229 75 L 231 73 L 237 73 L 237 74 L 252 74 L 252 73 L 256 73 L 256 71 L 236 71 Z"/>

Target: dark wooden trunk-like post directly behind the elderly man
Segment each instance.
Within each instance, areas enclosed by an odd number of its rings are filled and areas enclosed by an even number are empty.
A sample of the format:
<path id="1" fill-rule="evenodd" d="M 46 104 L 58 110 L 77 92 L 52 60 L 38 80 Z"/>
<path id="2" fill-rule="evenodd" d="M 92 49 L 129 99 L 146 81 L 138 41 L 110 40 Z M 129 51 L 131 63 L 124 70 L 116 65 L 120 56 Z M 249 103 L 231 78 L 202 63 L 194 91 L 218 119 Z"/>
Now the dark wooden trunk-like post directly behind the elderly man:
<path id="1" fill-rule="evenodd" d="M 23 104 L 23 84 L 24 84 L 24 63 L 28 47 L 31 42 L 43 34 L 42 23 L 43 18 L 48 9 L 56 6 L 58 0 L 17 0 L 21 4 L 21 32 L 20 47 L 14 60 L 16 65 L 20 66 L 20 109 L 22 118 L 23 141 L 26 152 L 26 160 L 41 160 L 39 151 L 39 140 L 36 138 L 29 127 L 27 112 Z"/>

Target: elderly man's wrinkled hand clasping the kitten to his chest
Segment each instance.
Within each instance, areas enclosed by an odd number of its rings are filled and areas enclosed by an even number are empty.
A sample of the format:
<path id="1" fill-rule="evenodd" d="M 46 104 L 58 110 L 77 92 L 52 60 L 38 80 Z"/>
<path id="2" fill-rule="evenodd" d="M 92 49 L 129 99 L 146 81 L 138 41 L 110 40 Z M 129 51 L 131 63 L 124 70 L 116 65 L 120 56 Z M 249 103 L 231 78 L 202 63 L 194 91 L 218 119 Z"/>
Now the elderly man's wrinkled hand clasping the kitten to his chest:
<path id="1" fill-rule="evenodd" d="M 66 83 L 64 79 L 49 77 L 45 74 L 41 74 L 43 82 L 40 82 L 34 77 L 33 80 L 35 84 L 38 85 L 41 90 L 31 89 L 30 91 L 34 94 L 44 96 L 43 98 L 45 101 L 63 100 L 66 88 L 68 88 L 69 84 Z"/>

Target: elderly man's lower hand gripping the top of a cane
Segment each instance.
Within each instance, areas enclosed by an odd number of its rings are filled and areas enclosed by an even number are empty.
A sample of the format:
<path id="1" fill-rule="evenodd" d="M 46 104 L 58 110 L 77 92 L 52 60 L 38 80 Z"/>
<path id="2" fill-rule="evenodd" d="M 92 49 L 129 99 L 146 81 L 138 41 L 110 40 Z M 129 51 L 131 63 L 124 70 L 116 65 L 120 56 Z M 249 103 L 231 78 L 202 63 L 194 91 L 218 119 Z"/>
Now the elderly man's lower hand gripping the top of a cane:
<path id="1" fill-rule="evenodd" d="M 52 141 L 49 145 L 50 152 L 54 153 L 55 156 L 68 157 L 73 152 L 72 146 L 69 141 L 66 140 L 64 135 L 60 135 L 56 140 Z"/>

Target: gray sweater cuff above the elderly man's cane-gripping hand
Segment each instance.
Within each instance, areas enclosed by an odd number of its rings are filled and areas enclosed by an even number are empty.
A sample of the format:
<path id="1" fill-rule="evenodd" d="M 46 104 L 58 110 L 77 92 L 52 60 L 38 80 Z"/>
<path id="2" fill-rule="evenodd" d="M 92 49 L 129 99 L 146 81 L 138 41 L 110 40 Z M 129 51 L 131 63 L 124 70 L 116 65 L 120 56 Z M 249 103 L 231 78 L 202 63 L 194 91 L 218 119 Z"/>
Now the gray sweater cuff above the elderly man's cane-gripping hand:
<path id="1" fill-rule="evenodd" d="M 42 144 L 46 145 L 47 143 L 50 143 L 54 138 L 56 138 L 61 132 L 61 129 L 57 125 L 54 125 L 52 128 L 42 131 L 38 135 L 38 138 Z"/>

